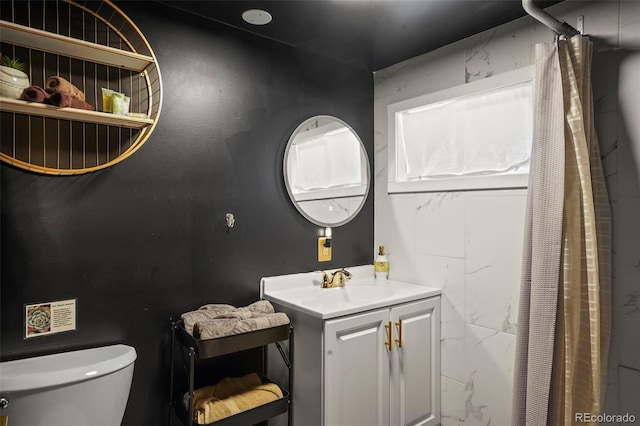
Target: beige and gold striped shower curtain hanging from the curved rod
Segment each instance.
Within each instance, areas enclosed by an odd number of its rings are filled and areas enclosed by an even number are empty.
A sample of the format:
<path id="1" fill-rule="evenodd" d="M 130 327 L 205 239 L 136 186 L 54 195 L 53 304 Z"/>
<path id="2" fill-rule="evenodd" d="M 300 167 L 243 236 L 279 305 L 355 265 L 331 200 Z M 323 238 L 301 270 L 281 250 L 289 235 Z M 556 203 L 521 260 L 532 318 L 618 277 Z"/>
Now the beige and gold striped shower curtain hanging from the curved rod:
<path id="1" fill-rule="evenodd" d="M 591 55 L 583 36 L 536 46 L 514 426 L 585 424 L 602 412 L 611 215 L 593 123 Z"/>

